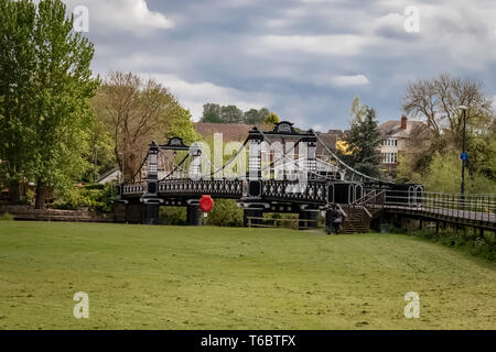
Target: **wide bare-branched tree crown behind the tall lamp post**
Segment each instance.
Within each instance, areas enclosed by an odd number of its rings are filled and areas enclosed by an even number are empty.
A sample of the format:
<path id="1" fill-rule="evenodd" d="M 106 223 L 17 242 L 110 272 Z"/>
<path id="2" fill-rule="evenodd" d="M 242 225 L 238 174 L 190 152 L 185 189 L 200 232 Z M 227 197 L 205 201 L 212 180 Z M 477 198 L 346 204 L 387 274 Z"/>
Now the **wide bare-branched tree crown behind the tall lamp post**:
<path id="1" fill-rule="evenodd" d="M 481 127 L 493 116 L 492 102 L 484 95 L 482 82 L 448 75 L 410 82 L 402 108 L 411 118 L 424 120 L 434 138 L 443 134 L 457 145 L 463 129 L 460 106 L 468 107 L 470 128 Z"/>

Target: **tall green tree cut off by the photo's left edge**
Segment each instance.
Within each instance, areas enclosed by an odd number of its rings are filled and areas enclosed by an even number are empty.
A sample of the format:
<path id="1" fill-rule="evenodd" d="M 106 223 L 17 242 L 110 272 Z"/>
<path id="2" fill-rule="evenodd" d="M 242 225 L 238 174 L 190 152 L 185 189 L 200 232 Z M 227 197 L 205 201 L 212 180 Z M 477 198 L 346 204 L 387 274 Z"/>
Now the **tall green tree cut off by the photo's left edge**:
<path id="1" fill-rule="evenodd" d="M 12 204 L 19 202 L 19 185 L 32 178 L 34 168 L 35 18 L 31 1 L 0 1 L 0 180 Z"/>

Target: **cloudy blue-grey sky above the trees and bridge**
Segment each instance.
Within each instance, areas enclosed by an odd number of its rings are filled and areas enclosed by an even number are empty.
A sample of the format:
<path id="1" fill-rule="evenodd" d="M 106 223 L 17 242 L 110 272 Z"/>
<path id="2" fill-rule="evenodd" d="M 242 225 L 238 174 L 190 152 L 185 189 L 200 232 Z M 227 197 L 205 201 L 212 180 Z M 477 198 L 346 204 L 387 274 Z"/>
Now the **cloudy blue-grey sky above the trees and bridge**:
<path id="1" fill-rule="evenodd" d="M 496 107 L 495 0 L 64 2 L 88 9 L 95 74 L 152 77 L 195 121 L 215 102 L 345 129 L 355 96 L 399 120 L 408 82 L 440 74 L 481 80 Z"/>

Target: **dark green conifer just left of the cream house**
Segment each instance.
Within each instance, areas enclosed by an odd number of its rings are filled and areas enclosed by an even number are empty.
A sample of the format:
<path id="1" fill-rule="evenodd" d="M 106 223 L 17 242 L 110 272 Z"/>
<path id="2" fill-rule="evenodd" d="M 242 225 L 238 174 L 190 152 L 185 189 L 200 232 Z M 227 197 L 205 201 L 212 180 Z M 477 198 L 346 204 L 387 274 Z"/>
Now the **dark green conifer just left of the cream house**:
<path id="1" fill-rule="evenodd" d="M 347 161 L 352 163 L 355 169 L 365 175 L 379 176 L 378 146 L 381 141 L 376 111 L 367 107 L 363 120 L 356 120 L 352 123 L 346 143 L 348 150 L 353 153 Z"/>

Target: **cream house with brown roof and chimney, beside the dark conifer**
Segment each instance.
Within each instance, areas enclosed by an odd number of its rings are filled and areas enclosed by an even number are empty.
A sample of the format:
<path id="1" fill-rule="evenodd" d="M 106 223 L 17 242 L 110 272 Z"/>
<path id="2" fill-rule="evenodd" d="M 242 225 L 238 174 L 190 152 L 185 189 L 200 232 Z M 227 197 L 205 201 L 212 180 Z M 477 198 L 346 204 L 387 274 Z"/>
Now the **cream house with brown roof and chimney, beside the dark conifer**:
<path id="1" fill-rule="evenodd" d="M 413 153 L 414 150 L 421 146 L 413 145 L 413 140 L 418 142 L 417 136 L 428 133 L 423 122 L 409 121 L 406 116 L 402 116 L 400 121 L 392 120 L 382 123 L 379 125 L 379 131 L 384 138 L 379 146 L 381 167 L 392 175 L 396 173 L 398 157 Z"/>

